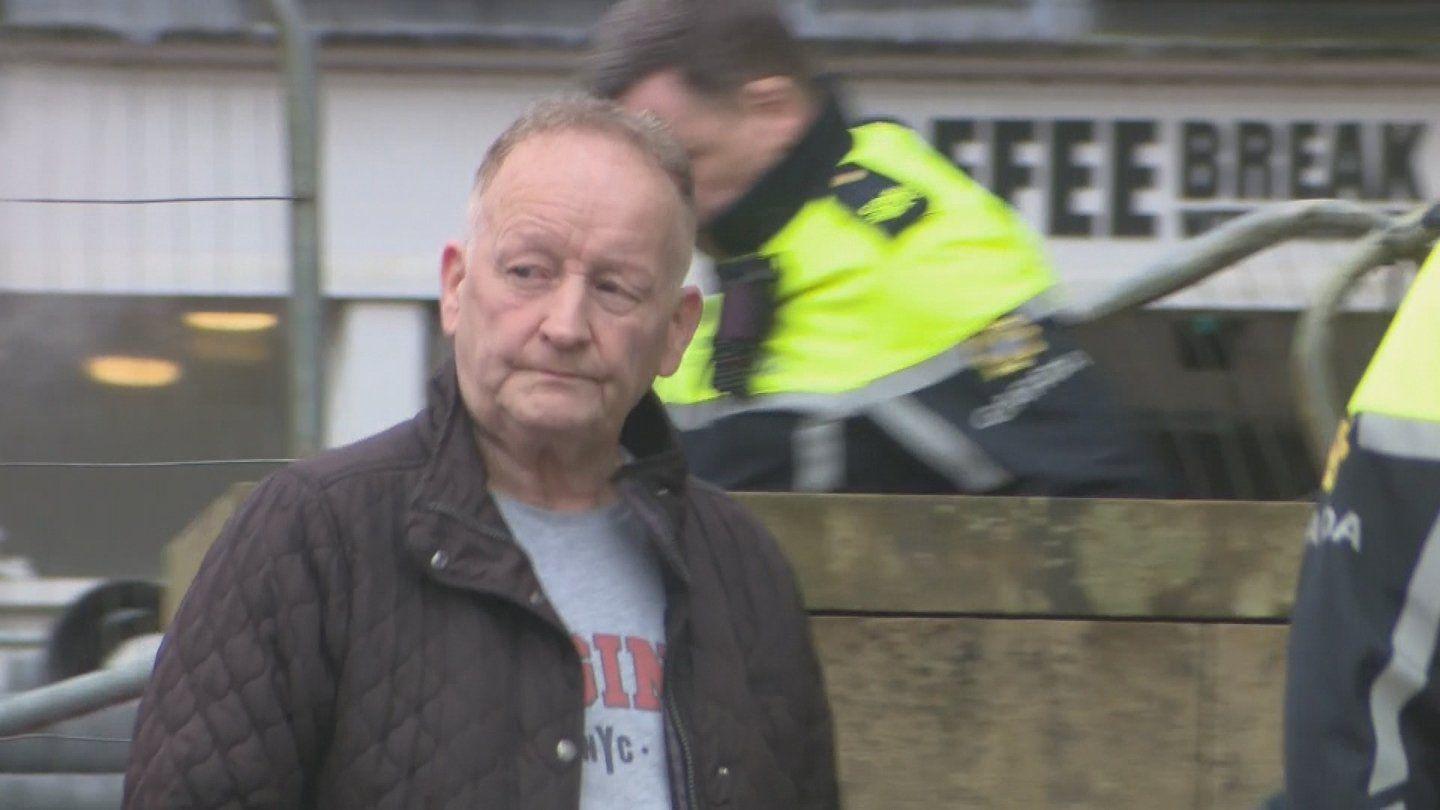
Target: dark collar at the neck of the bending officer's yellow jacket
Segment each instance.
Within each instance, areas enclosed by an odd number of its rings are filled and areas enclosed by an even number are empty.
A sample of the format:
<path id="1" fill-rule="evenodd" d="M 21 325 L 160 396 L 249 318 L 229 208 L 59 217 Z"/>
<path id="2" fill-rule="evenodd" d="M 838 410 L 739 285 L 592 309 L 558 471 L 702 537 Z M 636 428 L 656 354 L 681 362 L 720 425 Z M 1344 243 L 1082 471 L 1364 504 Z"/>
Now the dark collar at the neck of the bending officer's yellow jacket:
<path id="1" fill-rule="evenodd" d="M 822 92 L 819 115 L 801 140 L 706 226 L 706 244 L 720 252 L 717 258 L 759 251 L 806 202 L 829 190 L 852 140 L 840 99 L 829 89 Z"/>

